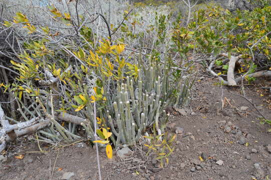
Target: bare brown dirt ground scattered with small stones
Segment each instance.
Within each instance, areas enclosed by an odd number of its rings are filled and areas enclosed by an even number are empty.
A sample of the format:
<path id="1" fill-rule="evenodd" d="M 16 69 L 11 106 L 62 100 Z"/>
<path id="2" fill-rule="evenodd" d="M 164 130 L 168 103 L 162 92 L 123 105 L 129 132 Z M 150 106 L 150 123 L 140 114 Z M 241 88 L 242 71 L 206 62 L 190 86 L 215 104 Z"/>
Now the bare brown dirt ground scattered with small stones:
<path id="1" fill-rule="evenodd" d="M 126 160 L 116 153 L 108 160 L 101 149 L 102 179 L 271 179 L 270 126 L 259 123 L 258 112 L 243 97 L 229 92 L 240 94 L 240 88 L 221 88 L 215 79 L 199 77 L 187 114 L 170 113 L 168 131 L 182 128 L 183 132 L 177 134 L 169 163 L 160 168 L 159 162 L 144 155 L 145 148 L 140 145 Z M 245 92 L 271 119 L 269 94 L 250 85 Z M 46 144 L 41 147 L 50 151 L 35 152 L 39 151 L 37 141 L 29 137 L 10 144 L 7 161 L 0 162 L 0 179 L 98 179 L 96 151 L 85 142 L 56 149 Z M 25 156 L 16 159 L 18 154 Z"/>

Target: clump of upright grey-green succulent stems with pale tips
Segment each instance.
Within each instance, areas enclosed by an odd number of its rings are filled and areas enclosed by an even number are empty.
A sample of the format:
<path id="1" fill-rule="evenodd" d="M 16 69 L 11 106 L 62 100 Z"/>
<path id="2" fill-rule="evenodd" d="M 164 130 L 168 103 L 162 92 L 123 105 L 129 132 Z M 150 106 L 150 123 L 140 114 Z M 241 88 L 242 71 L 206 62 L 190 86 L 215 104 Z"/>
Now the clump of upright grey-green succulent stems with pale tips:
<path id="1" fill-rule="evenodd" d="M 127 76 L 124 83 L 117 84 L 112 107 L 108 107 L 104 112 L 100 111 L 100 116 L 107 119 L 106 125 L 114 134 L 110 138 L 115 146 L 136 143 L 151 125 L 155 125 L 158 134 L 163 133 L 168 120 L 165 107 L 188 103 L 190 80 L 185 79 L 184 83 L 176 82 L 175 88 L 179 89 L 177 95 L 168 97 L 168 89 L 172 87 L 169 87 L 169 78 L 163 75 L 164 73 L 160 65 L 151 66 L 142 71 L 139 69 L 137 78 Z M 159 74 L 163 75 L 163 78 Z M 91 119 L 94 119 L 94 113 L 91 103 L 87 105 L 87 111 L 87 118 L 81 125 L 93 139 L 94 126 Z"/>

